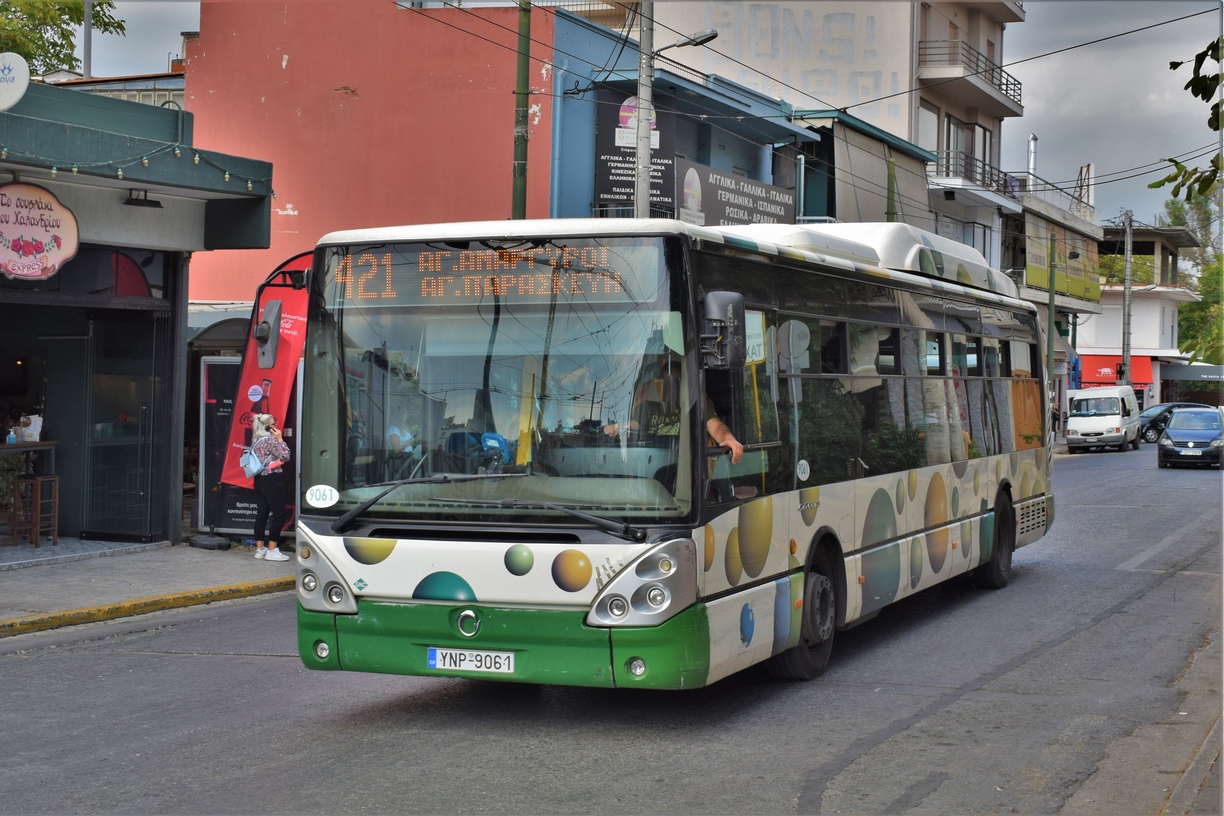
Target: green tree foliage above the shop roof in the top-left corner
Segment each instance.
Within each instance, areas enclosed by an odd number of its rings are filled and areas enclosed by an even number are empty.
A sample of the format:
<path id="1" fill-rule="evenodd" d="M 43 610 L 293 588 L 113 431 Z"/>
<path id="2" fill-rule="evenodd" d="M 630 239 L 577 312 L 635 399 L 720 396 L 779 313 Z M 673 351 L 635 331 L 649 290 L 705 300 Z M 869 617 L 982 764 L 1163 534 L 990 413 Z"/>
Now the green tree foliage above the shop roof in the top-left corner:
<path id="1" fill-rule="evenodd" d="M 114 16 L 113 0 L 94 0 L 93 29 L 125 33 Z M 0 2 L 0 51 L 20 54 L 33 75 L 59 69 L 77 70 L 76 33 L 84 26 L 84 0 L 2 0 Z"/>

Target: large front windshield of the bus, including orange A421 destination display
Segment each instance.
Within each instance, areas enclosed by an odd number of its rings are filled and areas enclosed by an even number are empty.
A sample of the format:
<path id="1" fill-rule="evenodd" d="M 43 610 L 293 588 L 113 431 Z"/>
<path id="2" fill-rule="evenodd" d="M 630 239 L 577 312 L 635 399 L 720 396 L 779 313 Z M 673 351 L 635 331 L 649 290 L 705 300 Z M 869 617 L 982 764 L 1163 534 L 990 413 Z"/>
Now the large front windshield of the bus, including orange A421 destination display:
<path id="1" fill-rule="evenodd" d="M 641 237 L 321 251 L 304 514 L 403 482 L 362 517 L 685 517 L 695 400 L 666 256 Z"/>

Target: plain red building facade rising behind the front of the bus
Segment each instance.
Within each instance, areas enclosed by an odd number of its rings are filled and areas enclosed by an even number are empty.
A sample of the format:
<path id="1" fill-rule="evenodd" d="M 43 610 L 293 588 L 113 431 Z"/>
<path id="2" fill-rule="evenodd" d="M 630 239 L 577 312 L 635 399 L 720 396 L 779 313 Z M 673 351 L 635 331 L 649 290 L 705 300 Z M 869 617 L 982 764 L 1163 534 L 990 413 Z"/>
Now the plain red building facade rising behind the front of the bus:
<path id="1" fill-rule="evenodd" d="M 531 15 L 529 218 L 548 214 L 553 15 Z M 273 163 L 271 247 L 200 253 L 195 301 L 245 300 L 327 232 L 510 217 L 518 11 L 203 0 L 196 143 Z"/>

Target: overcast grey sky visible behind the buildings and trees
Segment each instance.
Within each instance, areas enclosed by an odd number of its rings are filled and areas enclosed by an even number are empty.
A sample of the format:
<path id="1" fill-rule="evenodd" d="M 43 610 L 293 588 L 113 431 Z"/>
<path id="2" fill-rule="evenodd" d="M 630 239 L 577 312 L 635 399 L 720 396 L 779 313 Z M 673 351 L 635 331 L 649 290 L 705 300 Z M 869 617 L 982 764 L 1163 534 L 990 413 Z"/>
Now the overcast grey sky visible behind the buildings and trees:
<path id="1" fill-rule="evenodd" d="M 1024 115 L 1004 122 L 1000 169 L 1028 170 L 1033 133 L 1043 180 L 1071 190 L 1080 168 L 1093 165 L 1098 224 L 1120 223 L 1127 209 L 1137 223 L 1155 223 L 1170 187 L 1147 185 L 1170 169 L 1163 159 L 1206 166 L 1220 149 L 1220 133 L 1207 127 L 1208 104 L 1182 88 L 1195 54 L 1224 34 L 1220 0 L 1024 0 L 1023 6 L 1024 22 L 1009 24 L 1004 35 L 1002 65 L 1022 83 Z M 181 56 L 181 32 L 200 28 L 197 0 L 118 0 L 115 7 L 127 35 L 94 37 L 93 76 L 165 71 Z M 1111 39 L 1094 42 L 1103 38 Z M 1175 60 L 1191 64 L 1170 71 Z"/>

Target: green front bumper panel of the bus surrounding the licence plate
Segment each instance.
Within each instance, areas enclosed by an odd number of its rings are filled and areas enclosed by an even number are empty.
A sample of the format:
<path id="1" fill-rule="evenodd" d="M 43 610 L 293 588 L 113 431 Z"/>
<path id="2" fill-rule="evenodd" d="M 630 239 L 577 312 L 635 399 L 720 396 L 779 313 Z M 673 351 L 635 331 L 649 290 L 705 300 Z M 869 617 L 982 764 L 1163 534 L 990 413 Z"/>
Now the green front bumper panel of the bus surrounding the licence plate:
<path id="1" fill-rule="evenodd" d="M 475 613 L 475 635 L 459 634 L 460 613 Z M 660 626 L 594 629 L 581 610 L 506 609 L 482 606 L 361 602 L 355 615 L 297 607 L 297 650 L 310 669 L 479 678 L 638 689 L 694 689 L 710 673 L 710 626 L 705 606 L 694 606 Z M 471 631 L 470 621 L 465 624 Z M 318 645 L 327 657 L 318 656 Z M 512 652 L 514 673 L 431 668 L 431 647 Z M 629 663 L 640 658 L 645 672 Z"/>

